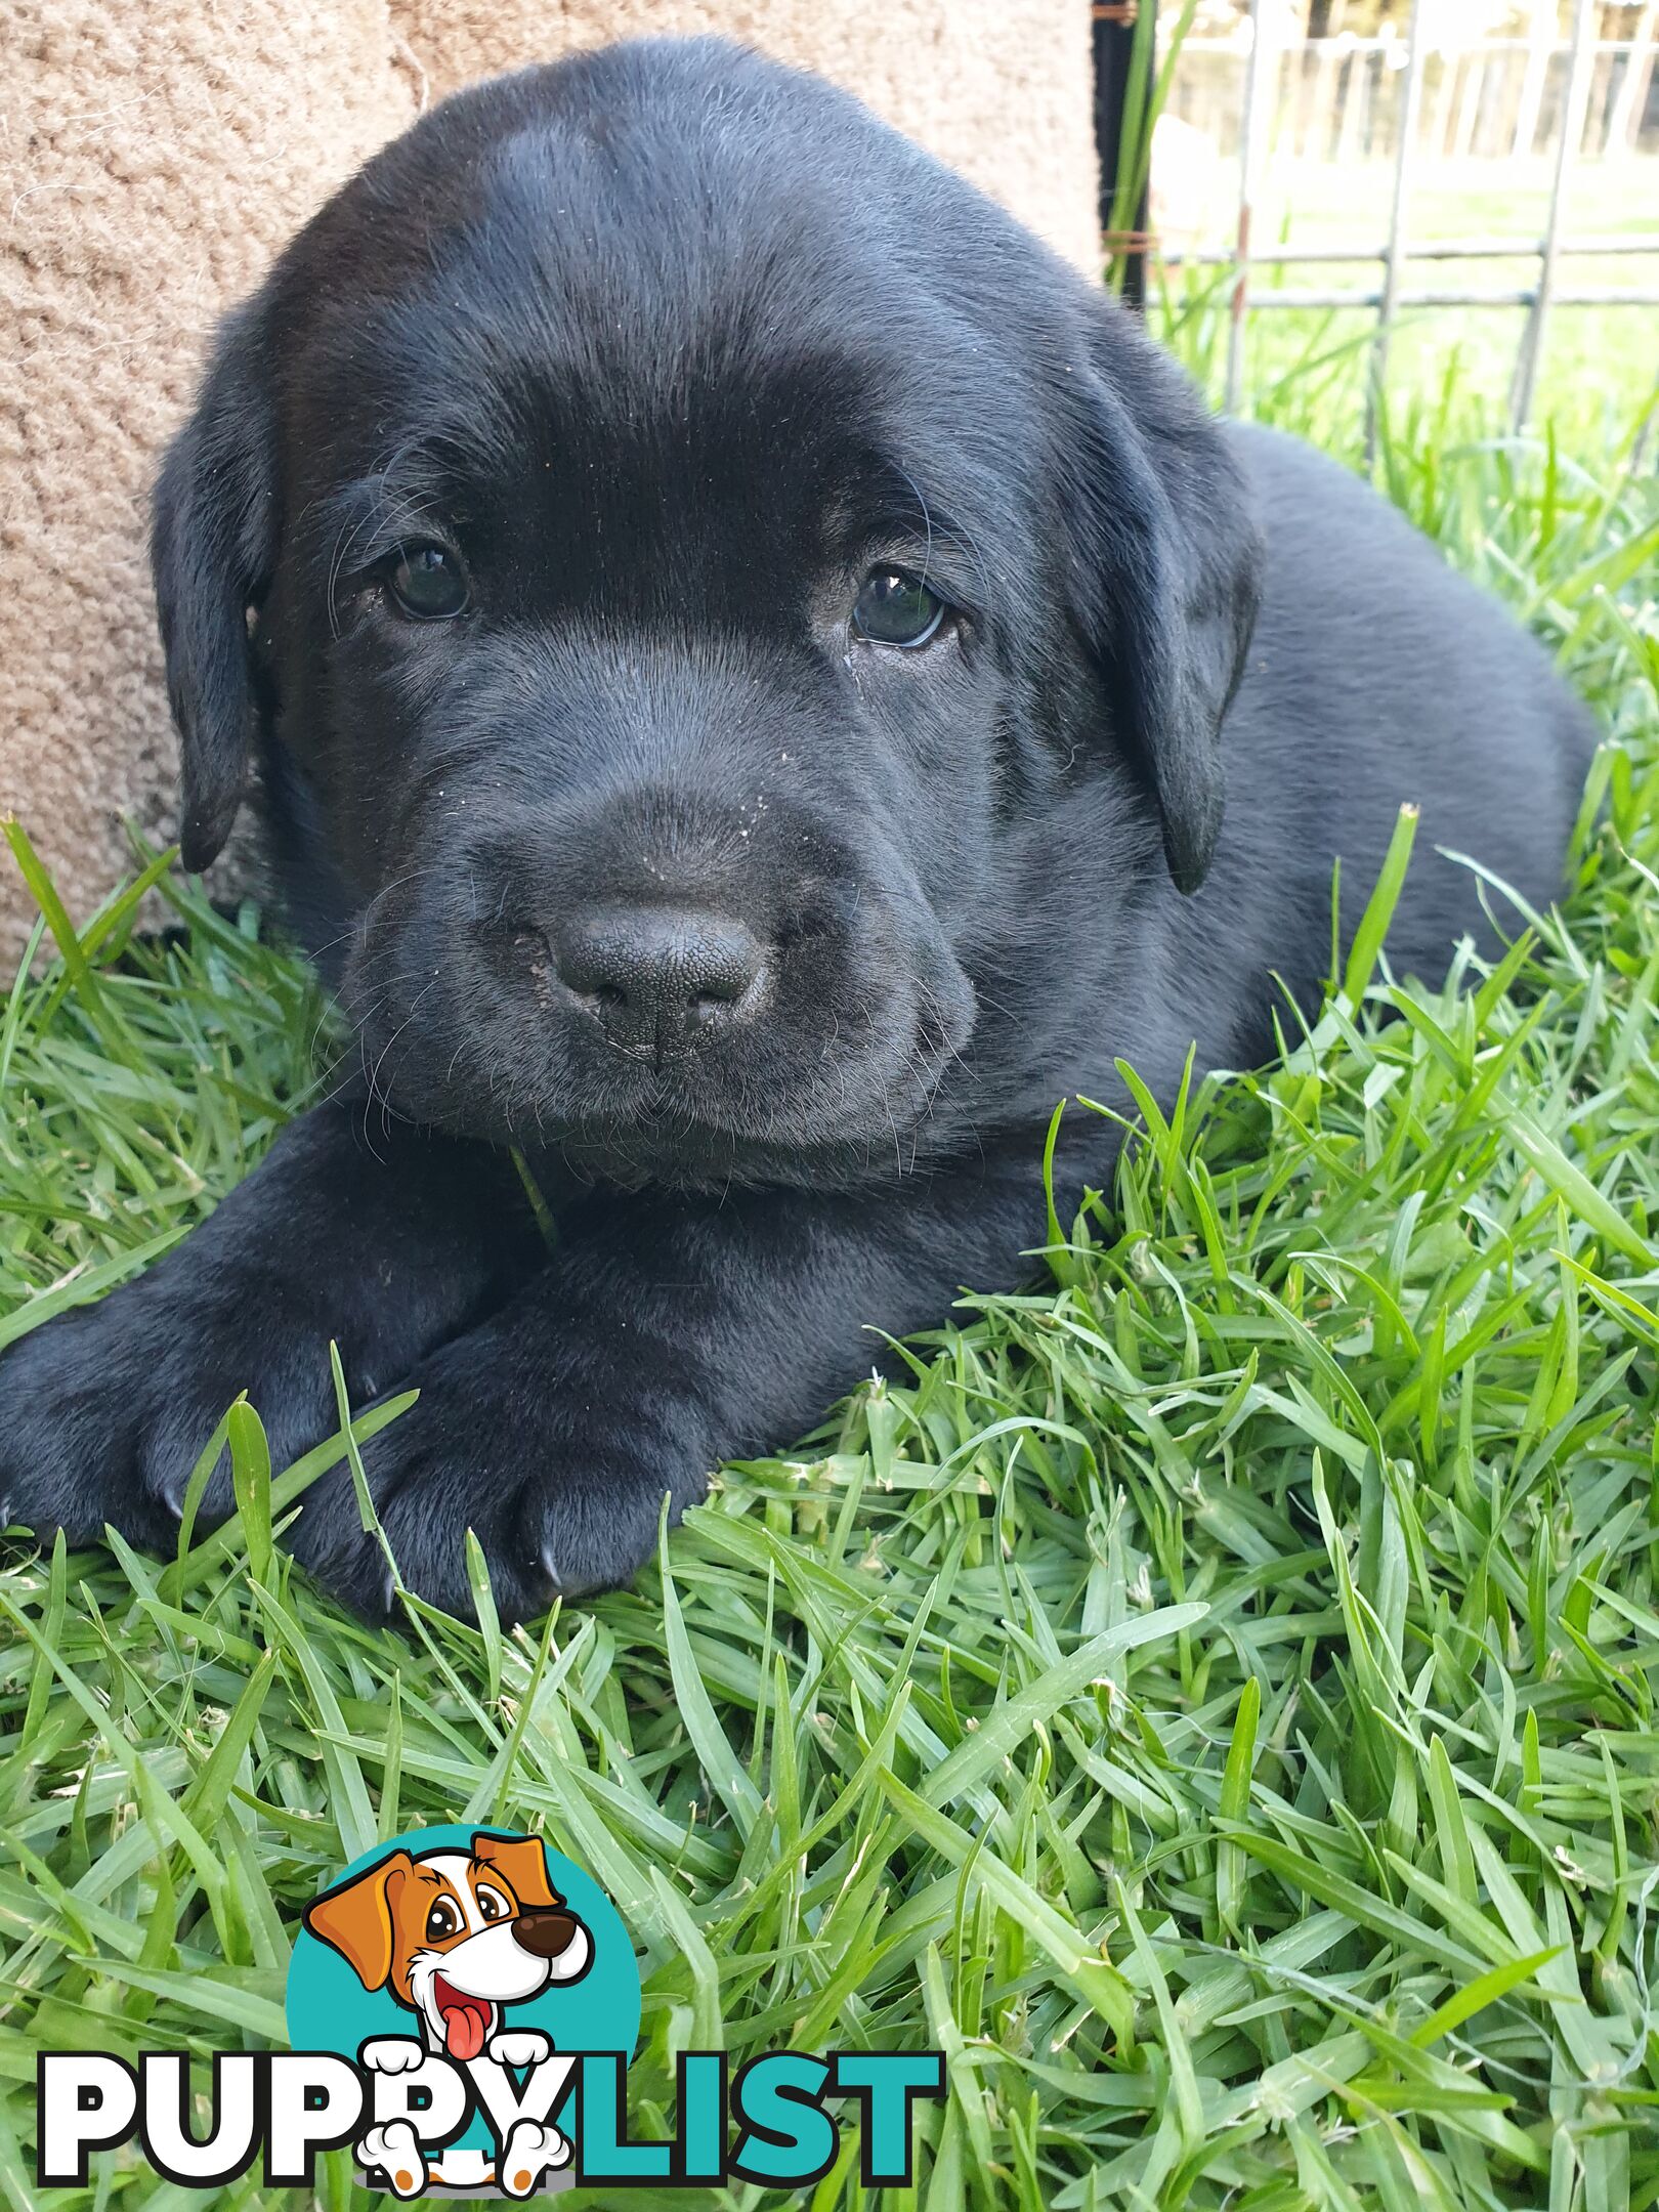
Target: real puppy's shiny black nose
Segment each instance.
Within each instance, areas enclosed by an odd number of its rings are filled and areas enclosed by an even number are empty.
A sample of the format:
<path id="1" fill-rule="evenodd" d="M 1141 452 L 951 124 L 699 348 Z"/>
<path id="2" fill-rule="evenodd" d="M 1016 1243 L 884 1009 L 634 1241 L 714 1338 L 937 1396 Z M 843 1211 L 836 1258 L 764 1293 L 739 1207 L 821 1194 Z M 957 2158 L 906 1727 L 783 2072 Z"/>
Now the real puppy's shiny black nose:
<path id="1" fill-rule="evenodd" d="M 573 916 L 553 956 L 566 989 L 633 1048 L 681 1051 L 765 998 L 765 951 L 723 914 L 604 907 Z"/>

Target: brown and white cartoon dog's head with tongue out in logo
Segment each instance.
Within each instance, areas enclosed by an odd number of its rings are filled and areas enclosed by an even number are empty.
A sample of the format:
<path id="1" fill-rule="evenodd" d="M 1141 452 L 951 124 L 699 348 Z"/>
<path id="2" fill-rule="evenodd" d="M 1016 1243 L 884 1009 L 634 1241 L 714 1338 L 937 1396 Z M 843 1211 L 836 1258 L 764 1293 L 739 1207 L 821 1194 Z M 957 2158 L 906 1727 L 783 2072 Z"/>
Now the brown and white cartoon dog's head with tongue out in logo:
<path id="1" fill-rule="evenodd" d="M 303 1922 L 458 2066 L 498 2037 L 509 2004 L 580 1982 L 593 1964 L 593 1938 L 553 1887 L 538 1836 L 392 1851 L 307 1905 Z"/>

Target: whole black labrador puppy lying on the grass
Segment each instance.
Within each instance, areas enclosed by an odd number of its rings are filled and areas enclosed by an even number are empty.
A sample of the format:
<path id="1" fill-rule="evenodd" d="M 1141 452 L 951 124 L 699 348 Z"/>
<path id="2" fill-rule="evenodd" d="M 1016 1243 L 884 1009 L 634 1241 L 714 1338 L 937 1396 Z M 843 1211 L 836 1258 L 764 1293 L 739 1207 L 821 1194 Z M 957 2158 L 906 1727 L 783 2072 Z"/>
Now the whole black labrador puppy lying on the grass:
<path id="1" fill-rule="evenodd" d="M 827 84 L 646 42 L 467 91 L 223 327 L 155 515 L 184 856 L 257 792 L 361 1040 L 186 1245 L 0 1363 L 0 1502 L 170 1544 L 248 1389 L 367 1451 L 405 1579 L 624 1582 L 1042 1243 L 1068 1091 L 1562 878 L 1590 730 L 1340 467 Z M 1352 922 L 1352 916 L 1349 916 Z M 1073 1115 L 1066 1197 L 1115 1137 Z M 522 1168 L 555 1214 L 549 1243 Z M 217 1478 L 210 1506 L 228 1506 Z M 294 1551 L 387 1604 L 343 1478 Z"/>

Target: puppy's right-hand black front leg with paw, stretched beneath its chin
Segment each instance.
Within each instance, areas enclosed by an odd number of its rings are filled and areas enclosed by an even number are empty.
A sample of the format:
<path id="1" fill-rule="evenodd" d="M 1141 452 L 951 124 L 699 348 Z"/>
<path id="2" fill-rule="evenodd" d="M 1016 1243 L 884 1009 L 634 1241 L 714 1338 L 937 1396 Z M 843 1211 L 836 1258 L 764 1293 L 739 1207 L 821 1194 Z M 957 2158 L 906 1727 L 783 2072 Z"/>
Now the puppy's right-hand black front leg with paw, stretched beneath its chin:
<path id="1" fill-rule="evenodd" d="M 1015 1285 L 1044 1239 L 1037 1141 L 856 1194 L 593 1197 L 542 1274 L 411 1376 L 420 1402 L 367 1449 L 409 1588 L 465 1613 L 467 1528 L 507 1617 L 626 1582 L 710 1467 L 787 1444 L 960 1283 Z M 354 1604 L 385 1601 L 343 1482 L 294 1548 Z"/>

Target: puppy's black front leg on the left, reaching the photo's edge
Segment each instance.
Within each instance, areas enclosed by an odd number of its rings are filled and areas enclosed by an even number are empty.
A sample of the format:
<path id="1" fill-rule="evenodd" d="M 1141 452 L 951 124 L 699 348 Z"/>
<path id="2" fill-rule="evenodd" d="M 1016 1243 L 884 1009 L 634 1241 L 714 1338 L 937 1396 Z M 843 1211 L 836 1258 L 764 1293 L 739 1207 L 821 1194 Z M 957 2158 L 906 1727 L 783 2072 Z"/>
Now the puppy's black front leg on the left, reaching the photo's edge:
<path id="1" fill-rule="evenodd" d="M 0 1524 L 166 1546 L 237 1391 L 283 1467 L 336 1427 L 330 1338 L 361 1407 L 540 1256 L 509 1157 L 319 1106 L 137 1283 L 0 1356 Z M 204 1517 L 228 1504 L 221 1469 Z"/>

